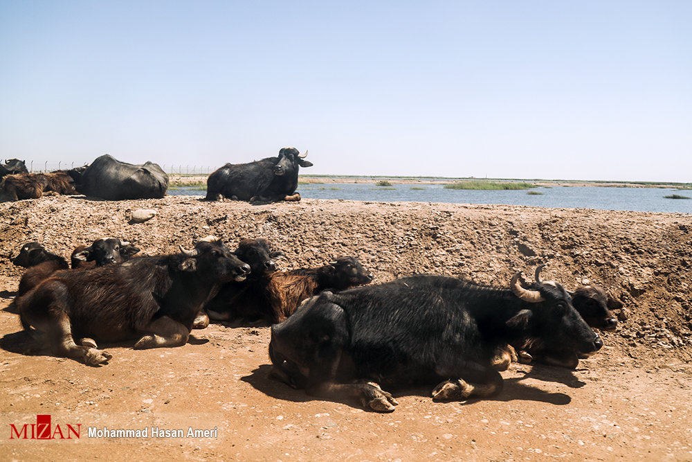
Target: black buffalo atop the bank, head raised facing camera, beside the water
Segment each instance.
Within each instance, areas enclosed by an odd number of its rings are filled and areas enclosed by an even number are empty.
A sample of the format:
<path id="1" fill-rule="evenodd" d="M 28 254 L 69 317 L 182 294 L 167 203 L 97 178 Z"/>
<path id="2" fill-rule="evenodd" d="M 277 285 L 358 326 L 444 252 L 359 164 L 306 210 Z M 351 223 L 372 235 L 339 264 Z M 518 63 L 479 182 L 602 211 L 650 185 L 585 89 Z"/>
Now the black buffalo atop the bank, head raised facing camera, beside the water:
<path id="1" fill-rule="evenodd" d="M 281 148 L 278 157 L 250 163 L 226 163 L 207 179 L 207 200 L 298 201 L 298 168 L 310 167 L 295 148 Z M 294 194 L 295 193 L 295 194 Z"/>

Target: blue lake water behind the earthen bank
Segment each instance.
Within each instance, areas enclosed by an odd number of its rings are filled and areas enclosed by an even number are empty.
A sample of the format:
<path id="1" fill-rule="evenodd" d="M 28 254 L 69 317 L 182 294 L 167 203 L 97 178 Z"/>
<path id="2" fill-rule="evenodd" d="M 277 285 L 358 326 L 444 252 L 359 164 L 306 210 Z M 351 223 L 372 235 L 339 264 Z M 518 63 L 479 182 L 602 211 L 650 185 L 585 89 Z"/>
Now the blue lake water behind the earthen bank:
<path id="1" fill-rule="evenodd" d="M 554 208 L 597 208 L 641 212 L 692 213 L 692 199 L 665 199 L 678 194 L 692 197 L 690 190 L 670 188 L 605 188 L 552 186 L 527 190 L 445 189 L 442 184 L 301 184 L 298 193 L 306 199 L 347 199 L 379 202 L 450 202 L 452 204 L 508 204 Z M 204 191 L 169 190 L 170 195 L 205 195 Z"/>

